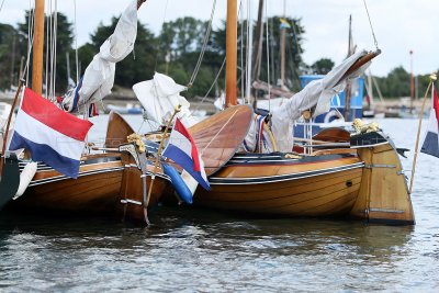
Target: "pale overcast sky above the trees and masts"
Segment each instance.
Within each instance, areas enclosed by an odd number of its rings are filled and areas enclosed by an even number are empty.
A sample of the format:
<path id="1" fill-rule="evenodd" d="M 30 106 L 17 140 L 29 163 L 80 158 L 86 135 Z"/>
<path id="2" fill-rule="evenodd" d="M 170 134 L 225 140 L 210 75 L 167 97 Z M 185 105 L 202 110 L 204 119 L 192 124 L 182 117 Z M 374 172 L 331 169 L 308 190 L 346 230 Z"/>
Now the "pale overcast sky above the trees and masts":
<path id="1" fill-rule="evenodd" d="M 0 4 L 3 0 L 0 0 Z M 100 22 L 110 23 L 120 15 L 131 0 L 61 0 L 58 11 L 75 21 L 77 7 L 77 31 L 79 45 L 88 42 Z M 250 2 L 249 2 L 250 1 Z M 269 15 L 282 15 L 284 0 L 268 1 Z M 15 24 L 24 21 L 24 10 L 33 0 L 4 0 L 0 22 Z M 55 0 L 52 0 L 55 3 Z M 226 0 L 217 0 L 215 25 L 225 19 Z M 250 3 L 254 19 L 258 0 Z M 164 21 L 191 15 L 207 20 L 213 0 L 148 0 L 139 11 L 139 20 L 155 33 L 159 33 Z M 372 74 L 385 76 L 397 66 L 410 70 L 413 50 L 414 74 L 430 74 L 439 68 L 439 1 L 432 0 L 367 0 L 371 21 L 382 55 L 375 58 Z M 48 0 L 46 0 L 46 8 Z M 246 10 L 246 9 L 244 9 Z M 313 64 L 319 58 L 340 63 L 347 54 L 348 19 L 352 14 L 353 40 L 359 48 L 374 49 L 363 0 L 285 0 L 286 15 L 301 18 L 304 25 L 304 60 Z"/>

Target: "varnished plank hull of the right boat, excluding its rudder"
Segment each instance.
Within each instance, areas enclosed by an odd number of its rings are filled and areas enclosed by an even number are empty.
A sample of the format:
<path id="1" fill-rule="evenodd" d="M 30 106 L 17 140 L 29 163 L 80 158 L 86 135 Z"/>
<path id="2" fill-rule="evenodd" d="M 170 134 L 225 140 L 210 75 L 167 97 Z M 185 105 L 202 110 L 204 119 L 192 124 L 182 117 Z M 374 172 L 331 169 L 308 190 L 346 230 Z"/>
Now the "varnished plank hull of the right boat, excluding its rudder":
<path id="1" fill-rule="evenodd" d="M 288 217 L 342 216 L 357 201 L 363 172 L 363 164 L 351 155 L 268 162 L 259 156 L 244 161 L 239 159 L 214 174 L 212 191 L 199 189 L 194 204 Z"/>

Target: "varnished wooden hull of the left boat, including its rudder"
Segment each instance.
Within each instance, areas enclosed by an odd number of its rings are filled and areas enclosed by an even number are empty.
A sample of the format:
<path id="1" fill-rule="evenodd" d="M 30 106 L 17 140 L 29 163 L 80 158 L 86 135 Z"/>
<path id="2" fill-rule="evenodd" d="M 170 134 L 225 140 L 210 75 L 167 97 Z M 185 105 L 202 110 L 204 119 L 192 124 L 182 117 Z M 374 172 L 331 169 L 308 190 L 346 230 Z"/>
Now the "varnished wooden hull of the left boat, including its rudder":
<path id="1" fill-rule="evenodd" d="M 38 167 L 26 192 L 7 209 L 41 214 L 106 215 L 145 223 L 143 174 L 137 166 L 125 165 L 120 154 L 90 156 L 89 162 L 80 167 L 78 179 Z M 146 187 L 150 187 L 150 172 L 145 179 Z M 148 207 L 157 204 L 168 184 L 165 176 L 156 177 Z"/>

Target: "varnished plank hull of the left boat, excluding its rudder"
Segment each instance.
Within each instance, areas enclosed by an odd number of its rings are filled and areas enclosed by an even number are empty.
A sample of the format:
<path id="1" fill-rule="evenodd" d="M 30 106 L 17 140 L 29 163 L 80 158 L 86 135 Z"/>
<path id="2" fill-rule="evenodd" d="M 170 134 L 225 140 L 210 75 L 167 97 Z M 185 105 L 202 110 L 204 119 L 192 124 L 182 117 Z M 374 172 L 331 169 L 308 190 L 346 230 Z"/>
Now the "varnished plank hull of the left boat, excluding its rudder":
<path id="1" fill-rule="evenodd" d="M 111 214 L 115 212 L 124 167 L 121 156 L 95 155 L 81 165 L 78 179 L 38 165 L 25 193 L 9 209 L 56 213 Z"/>

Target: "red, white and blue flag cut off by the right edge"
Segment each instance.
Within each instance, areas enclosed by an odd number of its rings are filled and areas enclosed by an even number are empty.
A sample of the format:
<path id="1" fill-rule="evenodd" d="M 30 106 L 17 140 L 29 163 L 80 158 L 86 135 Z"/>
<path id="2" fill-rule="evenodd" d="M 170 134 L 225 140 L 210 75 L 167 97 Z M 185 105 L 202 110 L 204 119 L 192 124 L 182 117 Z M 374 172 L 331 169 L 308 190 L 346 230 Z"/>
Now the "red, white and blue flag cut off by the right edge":
<path id="1" fill-rule="evenodd" d="M 431 91 L 430 119 L 420 151 L 439 158 L 439 99 L 435 86 Z"/>

